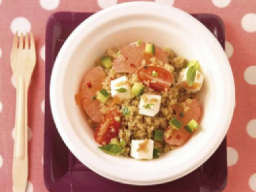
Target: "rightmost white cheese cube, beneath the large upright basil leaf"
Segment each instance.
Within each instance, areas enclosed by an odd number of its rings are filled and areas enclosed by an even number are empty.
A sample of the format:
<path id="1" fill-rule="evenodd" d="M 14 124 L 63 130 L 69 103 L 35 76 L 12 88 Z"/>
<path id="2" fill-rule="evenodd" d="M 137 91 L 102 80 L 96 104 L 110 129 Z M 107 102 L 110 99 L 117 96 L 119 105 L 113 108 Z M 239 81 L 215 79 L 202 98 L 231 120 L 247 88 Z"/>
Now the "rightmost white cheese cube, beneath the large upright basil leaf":
<path id="1" fill-rule="evenodd" d="M 188 68 L 180 71 L 180 76 L 177 80 L 177 84 L 181 84 L 190 92 L 198 92 L 204 82 L 203 74 L 201 74 L 198 70 L 196 70 L 196 77 L 195 77 L 194 84 L 192 84 L 192 86 L 189 86 L 188 80 L 187 80 L 187 72 L 188 72 Z"/>

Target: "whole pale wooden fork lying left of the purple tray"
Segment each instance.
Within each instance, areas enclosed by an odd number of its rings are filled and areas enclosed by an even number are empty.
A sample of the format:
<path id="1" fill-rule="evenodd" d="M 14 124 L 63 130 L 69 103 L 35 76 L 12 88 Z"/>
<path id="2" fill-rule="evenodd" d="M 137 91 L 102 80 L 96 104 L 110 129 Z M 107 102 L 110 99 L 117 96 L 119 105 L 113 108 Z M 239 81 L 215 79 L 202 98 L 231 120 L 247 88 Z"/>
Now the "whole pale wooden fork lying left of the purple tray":
<path id="1" fill-rule="evenodd" d="M 30 42 L 30 46 L 29 46 Z M 36 64 L 33 34 L 15 33 L 11 53 L 16 84 L 15 140 L 13 152 L 13 192 L 24 192 L 28 180 L 28 86 Z"/>

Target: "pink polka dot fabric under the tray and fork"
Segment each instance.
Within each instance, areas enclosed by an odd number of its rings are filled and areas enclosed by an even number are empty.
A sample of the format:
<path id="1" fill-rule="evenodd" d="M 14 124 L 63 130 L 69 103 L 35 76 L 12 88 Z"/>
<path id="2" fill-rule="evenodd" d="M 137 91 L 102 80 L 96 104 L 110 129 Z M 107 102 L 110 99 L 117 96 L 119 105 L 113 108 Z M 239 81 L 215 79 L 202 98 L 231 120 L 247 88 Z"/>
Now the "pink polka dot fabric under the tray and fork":
<path id="1" fill-rule="evenodd" d="M 0 191 L 12 191 L 15 79 L 10 67 L 13 33 L 33 31 L 37 65 L 29 90 L 29 177 L 26 192 L 46 192 L 43 179 L 45 24 L 58 11 L 97 12 L 128 0 L 0 0 Z M 130 0 L 129 0 L 130 1 Z M 236 83 L 236 109 L 227 134 L 225 192 L 256 191 L 256 1 L 152 0 L 188 13 L 214 13 L 226 28 L 226 54 Z M 217 129 L 218 127 L 216 127 Z"/>

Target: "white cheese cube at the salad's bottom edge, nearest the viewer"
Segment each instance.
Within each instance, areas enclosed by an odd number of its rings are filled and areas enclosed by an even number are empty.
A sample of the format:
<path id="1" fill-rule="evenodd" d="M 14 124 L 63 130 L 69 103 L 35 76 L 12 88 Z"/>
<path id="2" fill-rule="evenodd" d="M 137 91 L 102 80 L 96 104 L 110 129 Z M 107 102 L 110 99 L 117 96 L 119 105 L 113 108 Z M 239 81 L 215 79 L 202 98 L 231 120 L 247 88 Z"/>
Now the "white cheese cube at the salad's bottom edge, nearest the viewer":
<path id="1" fill-rule="evenodd" d="M 143 146 L 145 144 L 147 145 Z M 153 150 L 153 140 L 132 140 L 131 156 L 134 157 L 134 159 L 153 159 Z"/>

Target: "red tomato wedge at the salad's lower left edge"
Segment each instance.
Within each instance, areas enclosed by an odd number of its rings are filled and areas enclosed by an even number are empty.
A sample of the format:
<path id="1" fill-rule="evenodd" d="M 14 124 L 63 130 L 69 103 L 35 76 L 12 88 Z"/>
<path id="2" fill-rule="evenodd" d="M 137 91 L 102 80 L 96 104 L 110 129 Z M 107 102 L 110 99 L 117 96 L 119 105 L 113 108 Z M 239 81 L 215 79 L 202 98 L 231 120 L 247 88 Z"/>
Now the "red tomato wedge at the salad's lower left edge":
<path id="1" fill-rule="evenodd" d="M 115 120 L 115 116 L 119 117 L 119 120 Z M 115 138 L 122 125 L 121 114 L 116 110 L 109 111 L 107 115 L 102 118 L 102 121 L 98 125 L 95 131 L 95 141 L 100 145 L 106 145 L 112 138 Z"/>

